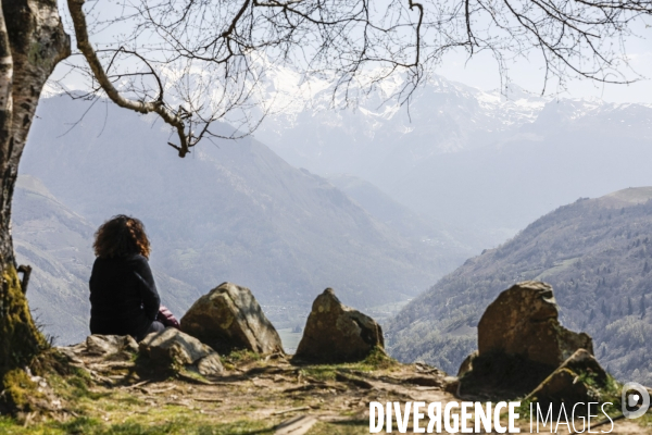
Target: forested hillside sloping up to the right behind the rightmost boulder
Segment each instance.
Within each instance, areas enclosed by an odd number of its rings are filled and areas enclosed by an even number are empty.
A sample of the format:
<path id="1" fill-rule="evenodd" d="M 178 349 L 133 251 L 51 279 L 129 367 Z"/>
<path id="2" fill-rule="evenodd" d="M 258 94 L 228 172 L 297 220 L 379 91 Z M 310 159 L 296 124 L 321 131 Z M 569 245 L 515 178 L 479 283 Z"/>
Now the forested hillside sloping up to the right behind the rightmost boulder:
<path id="1" fill-rule="evenodd" d="M 476 348 L 476 326 L 500 291 L 552 284 L 561 321 L 593 337 L 595 356 L 623 381 L 652 384 L 652 187 L 579 199 L 466 261 L 388 325 L 391 355 L 455 374 Z"/>

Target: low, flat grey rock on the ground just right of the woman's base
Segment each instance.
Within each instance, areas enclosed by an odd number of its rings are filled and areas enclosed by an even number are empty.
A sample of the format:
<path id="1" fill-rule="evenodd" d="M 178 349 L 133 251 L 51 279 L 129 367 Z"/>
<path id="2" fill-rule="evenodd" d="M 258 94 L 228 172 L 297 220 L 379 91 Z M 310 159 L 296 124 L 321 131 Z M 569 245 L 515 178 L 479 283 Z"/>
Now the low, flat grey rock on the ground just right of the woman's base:
<path id="1" fill-rule="evenodd" d="M 202 375 L 217 374 L 223 370 L 220 356 L 213 349 L 174 327 L 148 335 L 138 347 L 141 356 L 162 369 L 179 371 L 196 368 Z"/>

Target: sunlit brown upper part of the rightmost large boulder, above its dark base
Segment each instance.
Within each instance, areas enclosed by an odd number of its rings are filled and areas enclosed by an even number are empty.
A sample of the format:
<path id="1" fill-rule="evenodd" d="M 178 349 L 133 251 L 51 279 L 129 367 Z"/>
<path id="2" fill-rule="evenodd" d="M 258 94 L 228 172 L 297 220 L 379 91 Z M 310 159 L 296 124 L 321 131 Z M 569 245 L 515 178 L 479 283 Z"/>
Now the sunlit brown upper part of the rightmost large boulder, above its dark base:
<path id="1" fill-rule="evenodd" d="M 578 349 L 593 353 L 591 337 L 563 327 L 552 287 L 526 281 L 504 290 L 478 323 L 478 353 L 504 352 L 557 368 Z"/>

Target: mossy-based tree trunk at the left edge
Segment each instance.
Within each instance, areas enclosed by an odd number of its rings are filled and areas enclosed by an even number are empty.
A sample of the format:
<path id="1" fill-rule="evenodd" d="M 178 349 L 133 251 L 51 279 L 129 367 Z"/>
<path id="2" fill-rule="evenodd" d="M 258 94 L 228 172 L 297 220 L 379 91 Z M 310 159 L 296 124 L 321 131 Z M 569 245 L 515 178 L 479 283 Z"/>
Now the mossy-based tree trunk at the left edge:
<path id="1" fill-rule="evenodd" d="M 18 162 L 46 80 L 71 52 L 57 0 L 0 0 L 0 391 L 48 343 L 21 288 L 11 237 Z"/>

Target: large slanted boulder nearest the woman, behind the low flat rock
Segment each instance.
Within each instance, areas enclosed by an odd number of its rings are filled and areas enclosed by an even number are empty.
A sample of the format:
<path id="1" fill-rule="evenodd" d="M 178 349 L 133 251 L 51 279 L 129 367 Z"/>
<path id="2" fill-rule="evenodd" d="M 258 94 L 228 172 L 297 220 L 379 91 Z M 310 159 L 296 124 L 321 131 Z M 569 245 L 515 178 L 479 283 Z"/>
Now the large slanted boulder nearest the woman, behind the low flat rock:
<path id="1" fill-rule="evenodd" d="M 278 333 L 251 290 L 231 283 L 199 298 L 181 318 L 181 331 L 223 355 L 237 349 L 283 352 Z"/>

